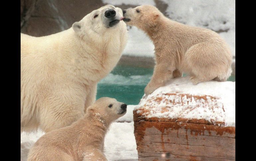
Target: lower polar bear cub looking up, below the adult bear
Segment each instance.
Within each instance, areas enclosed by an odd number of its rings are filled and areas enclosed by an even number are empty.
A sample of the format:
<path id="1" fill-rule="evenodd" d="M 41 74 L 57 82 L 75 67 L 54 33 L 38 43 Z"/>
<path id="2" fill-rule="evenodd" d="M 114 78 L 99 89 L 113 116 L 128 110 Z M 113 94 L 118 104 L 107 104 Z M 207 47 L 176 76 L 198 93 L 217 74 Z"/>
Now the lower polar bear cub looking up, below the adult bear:
<path id="1" fill-rule="evenodd" d="M 98 99 L 83 118 L 39 138 L 28 161 L 107 161 L 103 154 L 106 131 L 111 122 L 126 114 L 126 108 L 113 98 Z"/>

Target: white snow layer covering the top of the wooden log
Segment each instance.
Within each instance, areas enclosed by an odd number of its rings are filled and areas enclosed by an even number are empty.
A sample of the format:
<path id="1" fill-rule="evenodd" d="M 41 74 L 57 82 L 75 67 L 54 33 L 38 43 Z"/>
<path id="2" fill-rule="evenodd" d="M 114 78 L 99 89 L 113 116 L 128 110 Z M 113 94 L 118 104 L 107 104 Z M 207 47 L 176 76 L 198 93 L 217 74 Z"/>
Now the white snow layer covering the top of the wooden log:
<path id="1" fill-rule="evenodd" d="M 192 97 L 181 97 L 178 94 L 189 94 Z M 206 99 L 194 97 L 204 95 Z M 137 113 L 142 112 L 141 115 L 146 118 L 204 119 L 235 127 L 235 82 L 209 81 L 193 85 L 189 76 L 174 78 L 152 94 L 144 95 L 134 109 L 138 110 Z"/>

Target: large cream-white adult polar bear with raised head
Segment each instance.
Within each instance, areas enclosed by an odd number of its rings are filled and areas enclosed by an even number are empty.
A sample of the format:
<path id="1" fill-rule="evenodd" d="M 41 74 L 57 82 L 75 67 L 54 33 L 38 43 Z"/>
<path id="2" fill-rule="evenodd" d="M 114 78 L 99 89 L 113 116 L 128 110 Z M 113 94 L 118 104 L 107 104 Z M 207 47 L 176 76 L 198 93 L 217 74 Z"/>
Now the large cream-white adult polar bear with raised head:
<path id="1" fill-rule="evenodd" d="M 48 132 L 81 118 L 97 82 L 117 64 L 127 42 L 122 10 L 103 6 L 72 28 L 45 37 L 21 34 L 21 131 Z"/>

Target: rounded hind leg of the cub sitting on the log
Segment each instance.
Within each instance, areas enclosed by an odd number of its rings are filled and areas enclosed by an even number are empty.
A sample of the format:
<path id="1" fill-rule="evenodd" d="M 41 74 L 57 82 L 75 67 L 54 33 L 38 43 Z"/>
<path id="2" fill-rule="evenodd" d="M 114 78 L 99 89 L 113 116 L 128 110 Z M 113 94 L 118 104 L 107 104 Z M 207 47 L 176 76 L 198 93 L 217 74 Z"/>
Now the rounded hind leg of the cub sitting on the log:
<path id="1" fill-rule="evenodd" d="M 221 44 L 202 42 L 191 46 L 185 53 L 184 65 L 193 84 L 213 79 L 226 80 L 229 60 Z M 185 73 L 187 71 L 184 71 Z M 216 78 L 218 77 L 218 78 Z"/>

